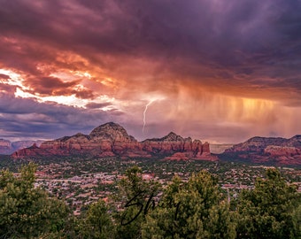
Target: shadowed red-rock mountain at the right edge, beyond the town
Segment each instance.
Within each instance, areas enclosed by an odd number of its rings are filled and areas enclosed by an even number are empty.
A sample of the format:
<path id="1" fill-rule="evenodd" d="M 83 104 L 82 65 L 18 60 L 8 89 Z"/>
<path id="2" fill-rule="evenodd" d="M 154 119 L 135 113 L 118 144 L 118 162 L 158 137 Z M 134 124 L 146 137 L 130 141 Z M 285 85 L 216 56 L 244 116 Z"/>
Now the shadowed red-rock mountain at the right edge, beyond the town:
<path id="1" fill-rule="evenodd" d="M 225 150 L 219 158 L 260 164 L 301 165 L 301 135 L 289 139 L 253 137 Z"/>

